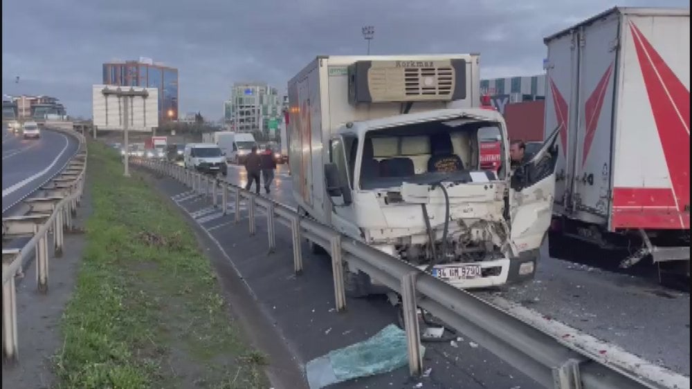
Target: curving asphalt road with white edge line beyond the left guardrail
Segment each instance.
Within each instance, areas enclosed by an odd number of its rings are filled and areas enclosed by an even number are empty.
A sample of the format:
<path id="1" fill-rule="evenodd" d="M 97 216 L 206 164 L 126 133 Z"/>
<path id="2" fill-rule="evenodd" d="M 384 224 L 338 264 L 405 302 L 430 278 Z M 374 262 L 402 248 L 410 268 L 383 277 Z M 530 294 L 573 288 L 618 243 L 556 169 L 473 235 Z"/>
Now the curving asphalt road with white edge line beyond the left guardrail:
<path id="1" fill-rule="evenodd" d="M 39 139 L 25 140 L 2 129 L 3 216 L 69 162 L 78 142 L 62 133 L 41 131 Z"/>

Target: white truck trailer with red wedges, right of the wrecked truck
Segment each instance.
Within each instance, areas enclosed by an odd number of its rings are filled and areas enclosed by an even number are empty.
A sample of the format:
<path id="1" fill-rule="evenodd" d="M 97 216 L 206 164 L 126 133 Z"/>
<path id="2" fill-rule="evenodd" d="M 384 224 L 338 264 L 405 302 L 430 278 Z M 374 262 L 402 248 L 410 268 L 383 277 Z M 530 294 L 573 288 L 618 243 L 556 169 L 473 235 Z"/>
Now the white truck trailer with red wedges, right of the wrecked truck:
<path id="1" fill-rule="evenodd" d="M 561 126 L 549 243 L 628 247 L 621 267 L 651 256 L 689 276 L 689 9 L 614 8 L 545 44 L 545 133 Z"/>

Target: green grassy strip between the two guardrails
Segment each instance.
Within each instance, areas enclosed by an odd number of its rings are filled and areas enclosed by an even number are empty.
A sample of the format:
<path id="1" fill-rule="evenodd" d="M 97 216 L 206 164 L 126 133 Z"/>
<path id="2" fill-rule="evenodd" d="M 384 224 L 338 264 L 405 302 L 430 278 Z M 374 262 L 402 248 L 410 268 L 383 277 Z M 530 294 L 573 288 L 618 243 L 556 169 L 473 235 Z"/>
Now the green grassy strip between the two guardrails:
<path id="1" fill-rule="evenodd" d="M 92 214 L 55 356 L 63 388 L 264 388 L 266 359 L 230 319 L 178 209 L 89 144 Z"/>

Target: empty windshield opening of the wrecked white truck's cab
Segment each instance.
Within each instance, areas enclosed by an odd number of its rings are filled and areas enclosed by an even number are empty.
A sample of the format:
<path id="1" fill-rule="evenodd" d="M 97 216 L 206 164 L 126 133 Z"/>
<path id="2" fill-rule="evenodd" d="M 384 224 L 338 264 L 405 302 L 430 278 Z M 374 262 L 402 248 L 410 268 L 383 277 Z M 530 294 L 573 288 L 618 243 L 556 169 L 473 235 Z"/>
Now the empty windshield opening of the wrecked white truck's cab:
<path id="1" fill-rule="evenodd" d="M 376 190 L 401 187 L 403 182 L 463 184 L 500 180 L 498 173 L 483 169 L 480 163 L 479 137 L 491 129 L 501 139 L 502 124 L 473 118 L 449 123 L 438 120 L 361 133 L 363 142 L 356 141 L 363 143 L 357 144 L 360 169 L 351 175 L 357 180 L 356 187 Z"/>

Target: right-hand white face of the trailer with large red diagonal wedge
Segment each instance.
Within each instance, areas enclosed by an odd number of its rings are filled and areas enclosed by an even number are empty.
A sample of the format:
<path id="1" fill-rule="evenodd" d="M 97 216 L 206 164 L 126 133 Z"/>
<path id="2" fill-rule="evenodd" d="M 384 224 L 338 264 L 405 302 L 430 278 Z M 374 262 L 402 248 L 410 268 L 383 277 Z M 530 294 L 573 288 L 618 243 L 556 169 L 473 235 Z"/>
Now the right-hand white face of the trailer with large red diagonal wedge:
<path id="1" fill-rule="evenodd" d="M 610 230 L 690 228 L 689 47 L 689 10 L 623 18 Z"/>

